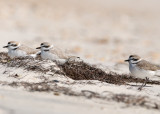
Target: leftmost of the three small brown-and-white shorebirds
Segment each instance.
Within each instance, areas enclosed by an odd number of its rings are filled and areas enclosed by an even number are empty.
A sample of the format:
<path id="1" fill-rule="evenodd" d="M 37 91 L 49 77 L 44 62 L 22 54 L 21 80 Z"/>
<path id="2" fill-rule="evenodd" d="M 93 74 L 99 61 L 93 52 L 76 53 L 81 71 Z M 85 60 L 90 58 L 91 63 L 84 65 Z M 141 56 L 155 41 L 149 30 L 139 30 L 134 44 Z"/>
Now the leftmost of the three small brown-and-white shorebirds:
<path id="1" fill-rule="evenodd" d="M 31 56 L 35 58 L 36 55 L 38 54 L 36 50 L 29 48 L 16 41 L 8 42 L 7 46 L 4 46 L 3 48 L 8 49 L 8 56 L 10 58 L 25 57 L 25 56 Z"/>

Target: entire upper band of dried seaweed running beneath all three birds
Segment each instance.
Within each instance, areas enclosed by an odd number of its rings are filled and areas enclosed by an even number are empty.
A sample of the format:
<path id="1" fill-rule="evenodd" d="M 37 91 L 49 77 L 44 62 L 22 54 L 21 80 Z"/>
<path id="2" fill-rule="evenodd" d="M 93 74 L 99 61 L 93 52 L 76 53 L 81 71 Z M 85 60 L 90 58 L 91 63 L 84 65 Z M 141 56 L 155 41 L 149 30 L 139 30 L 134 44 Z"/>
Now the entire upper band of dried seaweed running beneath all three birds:
<path id="1" fill-rule="evenodd" d="M 23 67 L 28 71 L 36 72 L 54 72 L 55 74 L 62 74 L 70 77 L 74 80 L 99 80 L 102 82 L 107 82 L 111 84 L 124 85 L 131 82 L 144 83 L 145 79 L 135 78 L 127 74 L 119 75 L 117 73 L 106 73 L 95 65 L 90 65 L 86 62 L 68 60 L 64 64 L 50 65 L 49 67 L 44 67 L 43 64 L 50 64 L 54 61 L 33 59 L 29 57 L 21 57 L 10 59 L 6 53 L 0 53 L 0 64 L 5 64 L 8 67 Z M 57 70 L 55 67 L 59 67 Z M 149 80 L 147 84 L 157 84 L 160 85 L 159 81 Z"/>

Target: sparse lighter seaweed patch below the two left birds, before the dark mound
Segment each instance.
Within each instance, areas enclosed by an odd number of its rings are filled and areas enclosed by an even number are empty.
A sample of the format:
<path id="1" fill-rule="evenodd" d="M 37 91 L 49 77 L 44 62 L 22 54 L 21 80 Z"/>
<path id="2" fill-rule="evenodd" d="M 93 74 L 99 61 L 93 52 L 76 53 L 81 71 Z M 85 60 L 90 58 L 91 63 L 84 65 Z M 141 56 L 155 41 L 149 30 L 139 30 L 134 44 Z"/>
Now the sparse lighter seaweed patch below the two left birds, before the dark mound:
<path id="1" fill-rule="evenodd" d="M 36 71 L 41 73 L 54 72 L 61 74 L 60 70 L 55 70 L 55 65 L 49 65 L 49 67 L 43 66 L 44 64 L 50 64 L 52 61 L 34 59 L 31 57 L 18 57 L 14 59 L 10 59 L 6 53 L 0 53 L 0 63 L 5 64 L 7 67 L 16 67 L 16 68 L 24 68 L 28 71 Z M 62 73 L 63 74 L 63 73 Z"/>

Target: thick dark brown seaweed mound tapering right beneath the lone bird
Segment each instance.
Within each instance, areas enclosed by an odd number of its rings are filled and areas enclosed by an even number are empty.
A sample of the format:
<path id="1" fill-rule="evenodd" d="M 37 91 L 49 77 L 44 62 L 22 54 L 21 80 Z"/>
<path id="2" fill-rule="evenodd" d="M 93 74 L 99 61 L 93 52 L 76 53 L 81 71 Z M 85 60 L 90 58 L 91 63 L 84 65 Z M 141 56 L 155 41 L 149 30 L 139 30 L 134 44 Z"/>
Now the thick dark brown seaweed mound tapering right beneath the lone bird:
<path id="1" fill-rule="evenodd" d="M 144 83 L 145 79 L 134 78 L 127 74 L 119 75 L 117 73 L 106 73 L 100 68 L 95 67 L 94 65 L 90 65 L 83 61 L 67 61 L 63 65 L 59 65 L 59 67 L 63 70 L 66 76 L 74 79 L 74 80 L 99 80 L 102 82 L 107 82 L 111 84 L 127 84 L 130 82 L 136 83 Z M 159 81 L 148 81 L 148 84 L 157 84 L 160 85 Z"/>

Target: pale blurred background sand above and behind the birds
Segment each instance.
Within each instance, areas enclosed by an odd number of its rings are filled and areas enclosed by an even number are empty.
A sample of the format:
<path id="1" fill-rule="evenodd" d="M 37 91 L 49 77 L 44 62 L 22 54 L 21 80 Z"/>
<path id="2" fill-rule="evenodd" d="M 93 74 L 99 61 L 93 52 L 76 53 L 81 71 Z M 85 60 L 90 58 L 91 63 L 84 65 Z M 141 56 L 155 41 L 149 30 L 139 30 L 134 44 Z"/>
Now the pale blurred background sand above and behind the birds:
<path id="1" fill-rule="evenodd" d="M 160 62 L 158 0 L 1 0 L 0 46 L 43 41 L 101 62 Z"/>

